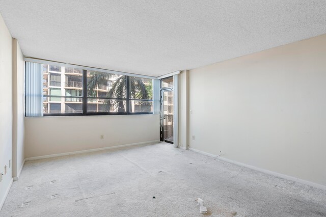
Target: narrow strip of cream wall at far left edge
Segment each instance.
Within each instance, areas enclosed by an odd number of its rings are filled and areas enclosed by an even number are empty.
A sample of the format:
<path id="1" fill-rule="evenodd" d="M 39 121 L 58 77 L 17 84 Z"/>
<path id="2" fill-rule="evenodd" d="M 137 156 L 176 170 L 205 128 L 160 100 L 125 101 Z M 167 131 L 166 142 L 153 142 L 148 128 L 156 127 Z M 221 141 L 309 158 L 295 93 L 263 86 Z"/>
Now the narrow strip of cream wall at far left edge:
<path id="1" fill-rule="evenodd" d="M 12 181 L 9 160 L 12 157 L 12 38 L 0 15 L 0 209 Z"/>

